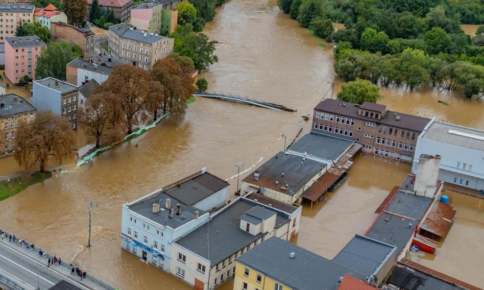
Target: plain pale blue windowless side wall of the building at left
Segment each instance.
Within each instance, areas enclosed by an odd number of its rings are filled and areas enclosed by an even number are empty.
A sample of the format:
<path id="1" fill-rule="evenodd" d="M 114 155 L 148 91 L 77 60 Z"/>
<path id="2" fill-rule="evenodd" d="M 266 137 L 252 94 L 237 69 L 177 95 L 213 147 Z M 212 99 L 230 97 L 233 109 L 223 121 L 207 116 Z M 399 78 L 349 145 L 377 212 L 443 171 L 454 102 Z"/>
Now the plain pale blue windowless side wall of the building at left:
<path id="1" fill-rule="evenodd" d="M 36 82 L 34 82 L 32 90 L 30 103 L 37 108 L 38 112 L 51 110 L 54 114 L 62 115 L 60 92 Z"/>

